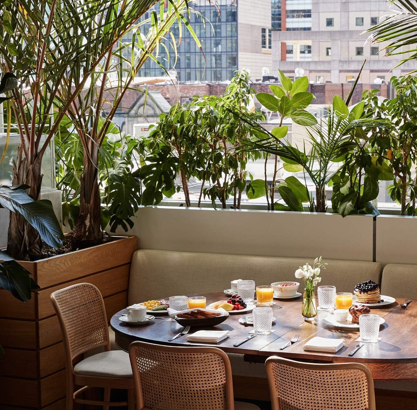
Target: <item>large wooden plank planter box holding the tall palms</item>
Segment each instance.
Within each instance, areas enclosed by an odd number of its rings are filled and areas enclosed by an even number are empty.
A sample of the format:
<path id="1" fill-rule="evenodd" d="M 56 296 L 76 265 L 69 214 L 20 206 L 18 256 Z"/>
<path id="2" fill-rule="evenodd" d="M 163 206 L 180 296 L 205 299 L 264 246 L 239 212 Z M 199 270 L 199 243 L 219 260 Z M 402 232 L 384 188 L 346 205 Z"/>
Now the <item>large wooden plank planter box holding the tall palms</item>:
<path id="1" fill-rule="evenodd" d="M 136 236 L 120 237 L 36 262 L 20 262 L 40 286 L 22 303 L 0 290 L 0 407 L 65 409 L 65 358 L 61 330 L 50 294 L 80 282 L 100 289 L 107 319 L 127 305 L 129 271 Z"/>

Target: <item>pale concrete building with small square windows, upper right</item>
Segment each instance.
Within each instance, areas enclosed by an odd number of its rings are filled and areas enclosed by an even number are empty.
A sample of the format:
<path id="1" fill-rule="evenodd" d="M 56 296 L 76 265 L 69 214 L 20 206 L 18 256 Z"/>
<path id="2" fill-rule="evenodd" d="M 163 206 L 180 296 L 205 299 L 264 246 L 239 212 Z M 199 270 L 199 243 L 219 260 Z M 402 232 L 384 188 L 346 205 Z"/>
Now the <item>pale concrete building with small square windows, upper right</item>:
<path id="1" fill-rule="evenodd" d="M 282 0 L 281 30 L 272 33 L 272 72 L 280 68 L 295 76 L 303 68 L 310 81 L 345 83 L 354 80 L 364 59 L 360 80 L 388 81 L 412 70 L 404 64 L 392 70 L 397 56 L 385 56 L 382 45 L 365 44 L 364 30 L 384 18 L 384 0 Z M 377 80 L 378 82 L 379 80 Z"/>

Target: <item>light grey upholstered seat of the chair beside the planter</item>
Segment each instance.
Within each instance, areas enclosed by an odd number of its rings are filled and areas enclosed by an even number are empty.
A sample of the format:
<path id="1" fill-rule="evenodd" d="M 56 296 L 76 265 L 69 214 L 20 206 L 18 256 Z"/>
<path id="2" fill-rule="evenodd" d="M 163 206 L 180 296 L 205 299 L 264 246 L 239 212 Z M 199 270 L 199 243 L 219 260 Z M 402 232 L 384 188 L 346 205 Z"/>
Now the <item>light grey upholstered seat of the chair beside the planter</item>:
<path id="1" fill-rule="evenodd" d="M 94 354 L 74 366 L 74 373 L 83 376 L 133 377 L 129 355 L 123 350 Z"/>

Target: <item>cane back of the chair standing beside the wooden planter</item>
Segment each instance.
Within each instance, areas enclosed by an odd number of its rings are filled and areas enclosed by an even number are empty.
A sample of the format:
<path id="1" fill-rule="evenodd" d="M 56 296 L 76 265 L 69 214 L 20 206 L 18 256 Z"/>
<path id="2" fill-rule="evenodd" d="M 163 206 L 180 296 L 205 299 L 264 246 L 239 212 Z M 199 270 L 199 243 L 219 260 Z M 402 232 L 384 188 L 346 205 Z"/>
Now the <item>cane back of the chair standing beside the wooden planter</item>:
<path id="1" fill-rule="evenodd" d="M 99 346 L 110 350 L 106 309 L 100 291 L 91 283 L 78 283 L 51 294 L 63 333 L 67 359 Z M 67 363 L 67 371 L 68 371 Z"/>

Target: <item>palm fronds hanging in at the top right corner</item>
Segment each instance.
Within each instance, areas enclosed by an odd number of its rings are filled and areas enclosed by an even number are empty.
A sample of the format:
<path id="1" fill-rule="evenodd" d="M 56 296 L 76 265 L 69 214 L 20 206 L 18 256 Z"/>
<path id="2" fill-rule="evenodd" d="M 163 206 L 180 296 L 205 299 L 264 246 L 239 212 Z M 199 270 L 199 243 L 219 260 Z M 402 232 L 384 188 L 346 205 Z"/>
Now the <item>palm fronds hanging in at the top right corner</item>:
<path id="1" fill-rule="evenodd" d="M 388 0 L 389 6 L 384 19 L 377 25 L 364 31 L 371 33 L 368 43 L 384 43 L 386 56 L 398 56 L 401 66 L 407 61 L 417 60 L 417 1 L 416 0 Z M 404 56 L 404 54 L 409 54 Z M 417 70 L 411 71 L 411 73 Z"/>

